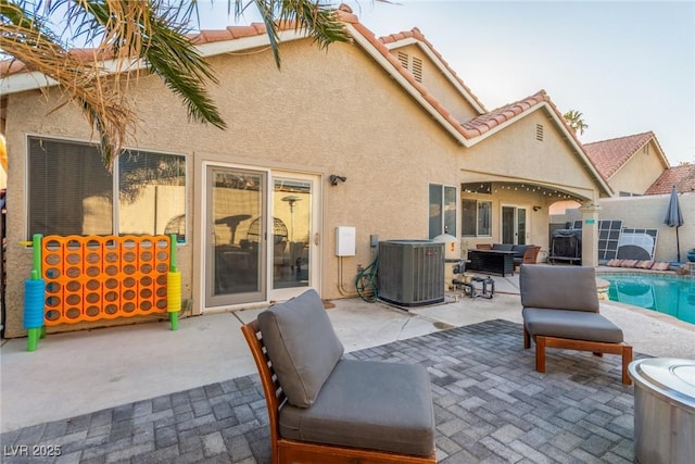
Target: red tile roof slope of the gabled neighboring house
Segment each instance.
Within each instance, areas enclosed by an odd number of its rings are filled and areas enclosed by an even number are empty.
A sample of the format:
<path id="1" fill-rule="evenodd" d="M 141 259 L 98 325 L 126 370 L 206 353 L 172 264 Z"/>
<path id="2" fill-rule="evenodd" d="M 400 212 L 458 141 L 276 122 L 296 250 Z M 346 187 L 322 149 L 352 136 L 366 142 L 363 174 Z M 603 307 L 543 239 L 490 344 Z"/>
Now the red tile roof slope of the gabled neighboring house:
<path id="1" fill-rule="evenodd" d="M 648 133 L 584 143 L 584 151 L 604 177 L 610 178 L 650 139 L 656 141 L 656 136 L 649 130 Z"/>

